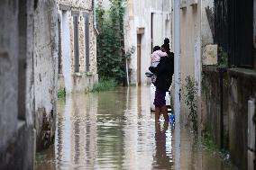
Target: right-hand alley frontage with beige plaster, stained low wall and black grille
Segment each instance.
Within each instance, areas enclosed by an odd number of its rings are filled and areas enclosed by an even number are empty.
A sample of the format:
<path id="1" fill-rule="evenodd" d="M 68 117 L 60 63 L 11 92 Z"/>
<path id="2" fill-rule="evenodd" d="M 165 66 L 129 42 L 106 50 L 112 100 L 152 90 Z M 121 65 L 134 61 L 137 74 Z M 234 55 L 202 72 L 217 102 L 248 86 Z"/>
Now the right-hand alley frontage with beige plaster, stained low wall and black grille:
<path id="1" fill-rule="evenodd" d="M 255 164 L 256 2 L 180 1 L 181 118 L 186 77 L 197 86 L 199 130 L 207 130 L 239 169 Z M 175 16 L 174 16 L 175 17 Z"/>

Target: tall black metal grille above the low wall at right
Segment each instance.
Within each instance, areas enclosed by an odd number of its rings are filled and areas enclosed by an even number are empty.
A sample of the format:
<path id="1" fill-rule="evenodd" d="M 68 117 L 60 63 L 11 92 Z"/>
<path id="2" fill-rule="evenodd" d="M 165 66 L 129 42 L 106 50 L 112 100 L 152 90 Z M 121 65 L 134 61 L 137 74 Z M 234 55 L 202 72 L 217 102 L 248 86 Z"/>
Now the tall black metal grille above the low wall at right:
<path id="1" fill-rule="evenodd" d="M 215 0 L 214 40 L 230 66 L 253 67 L 253 0 Z"/>

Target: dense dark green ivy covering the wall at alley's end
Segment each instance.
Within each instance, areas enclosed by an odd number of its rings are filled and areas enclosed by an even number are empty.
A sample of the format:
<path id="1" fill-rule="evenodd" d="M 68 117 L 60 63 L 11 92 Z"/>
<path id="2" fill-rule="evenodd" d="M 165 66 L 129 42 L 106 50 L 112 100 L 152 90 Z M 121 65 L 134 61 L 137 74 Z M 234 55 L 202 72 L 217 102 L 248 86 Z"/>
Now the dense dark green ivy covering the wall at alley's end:
<path id="1" fill-rule="evenodd" d="M 123 0 L 110 0 L 110 9 L 99 3 L 96 7 L 97 69 L 100 79 L 125 80 L 125 55 L 123 42 Z"/>

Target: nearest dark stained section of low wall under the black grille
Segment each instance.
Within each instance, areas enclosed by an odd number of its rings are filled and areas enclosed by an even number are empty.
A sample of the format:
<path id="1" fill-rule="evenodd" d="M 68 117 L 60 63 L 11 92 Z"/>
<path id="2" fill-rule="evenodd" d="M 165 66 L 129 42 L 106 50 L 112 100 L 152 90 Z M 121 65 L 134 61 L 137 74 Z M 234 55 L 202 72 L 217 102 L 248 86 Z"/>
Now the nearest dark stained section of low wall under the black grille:
<path id="1" fill-rule="evenodd" d="M 233 163 L 247 169 L 248 101 L 256 99 L 256 72 L 234 68 L 228 70 L 229 150 Z"/>

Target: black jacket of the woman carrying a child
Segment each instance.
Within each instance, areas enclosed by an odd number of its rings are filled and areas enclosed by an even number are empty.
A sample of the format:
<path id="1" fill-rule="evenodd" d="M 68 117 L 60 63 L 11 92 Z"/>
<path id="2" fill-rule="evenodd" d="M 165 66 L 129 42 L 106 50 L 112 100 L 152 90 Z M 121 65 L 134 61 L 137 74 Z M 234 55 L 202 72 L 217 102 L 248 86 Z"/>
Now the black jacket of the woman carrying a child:
<path id="1" fill-rule="evenodd" d="M 157 67 L 149 67 L 151 73 L 157 76 L 155 86 L 160 91 L 169 91 L 174 74 L 174 54 L 168 52 L 168 57 L 161 57 Z"/>

